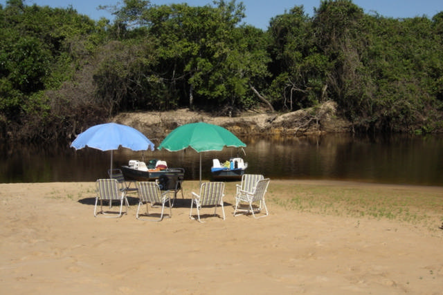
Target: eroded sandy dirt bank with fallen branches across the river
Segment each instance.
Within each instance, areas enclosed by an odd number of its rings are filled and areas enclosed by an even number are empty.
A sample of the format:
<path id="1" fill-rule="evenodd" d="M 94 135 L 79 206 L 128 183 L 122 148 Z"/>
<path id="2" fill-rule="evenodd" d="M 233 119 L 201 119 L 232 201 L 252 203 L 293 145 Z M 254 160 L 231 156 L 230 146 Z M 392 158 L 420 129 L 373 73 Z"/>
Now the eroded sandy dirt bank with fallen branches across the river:
<path id="1" fill-rule="evenodd" d="M 246 112 L 239 117 L 214 117 L 208 113 L 180 109 L 168 112 L 120 113 L 114 121 L 150 134 L 150 138 L 154 140 L 163 140 L 165 134 L 173 129 L 193 122 L 217 124 L 237 136 L 295 136 L 350 130 L 350 123 L 337 116 L 334 102 L 284 114 Z"/>

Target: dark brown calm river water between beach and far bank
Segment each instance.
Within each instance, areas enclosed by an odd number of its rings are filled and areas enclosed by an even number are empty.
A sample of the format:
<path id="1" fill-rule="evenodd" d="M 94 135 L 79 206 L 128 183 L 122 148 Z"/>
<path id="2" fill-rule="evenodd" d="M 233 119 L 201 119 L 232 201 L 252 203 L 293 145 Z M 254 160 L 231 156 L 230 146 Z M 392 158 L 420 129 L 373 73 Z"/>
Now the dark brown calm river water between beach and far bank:
<path id="1" fill-rule="evenodd" d="M 233 148 L 202 153 L 202 178 L 210 179 L 213 158 L 220 162 L 240 153 L 247 173 L 271 179 L 353 180 L 443 186 L 443 135 L 344 134 L 295 138 L 240 138 L 244 152 Z M 80 182 L 107 177 L 110 151 L 69 145 L 0 145 L 0 182 Z M 114 151 L 114 168 L 131 159 L 161 159 L 183 167 L 188 180 L 199 179 L 199 154 L 128 149 Z"/>

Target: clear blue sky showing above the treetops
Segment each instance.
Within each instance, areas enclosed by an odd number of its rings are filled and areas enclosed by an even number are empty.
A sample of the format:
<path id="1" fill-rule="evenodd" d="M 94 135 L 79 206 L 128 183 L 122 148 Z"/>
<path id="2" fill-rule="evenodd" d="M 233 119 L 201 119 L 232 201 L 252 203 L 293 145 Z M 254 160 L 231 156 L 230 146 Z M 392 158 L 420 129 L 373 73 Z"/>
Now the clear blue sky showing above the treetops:
<path id="1" fill-rule="evenodd" d="M 123 0 L 120 2 L 123 2 Z M 151 1 L 152 4 L 156 5 L 184 2 L 190 6 L 204 6 L 213 3 L 212 0 Z M 293 6 L 302 5 L 309 16 L 314 15 L 314 7 L 318 8 L 320 6 L 320 0 L 243 0 L 242 2 L 246 6 L 244 22 L 264 30 L 266 30 L 271 17 L 281 15 L 284 13 L 284 10 L 289 10 Z M 363 8 L 365 13 L 376 11 L 383 17 L 393 17 L 396 19 L 421 17 L 423 15 L 432 18 L 438 12 L 443 11 L 443 0 L 354 0 L 353 2 Z M 0 0 L 0 3 L 4 6 L 6 0 Z M 35 3 L 38 6 L 51 6 L 53 8 L 66 8 L 71 5 L 79 13 L 98 20 L 100 17 L 112 19 L 107 12 L 97 10 L 98 6 L 114 6 L 119 3 L 119 0 L 26 0 L 25 3 L 27 5 Z"/>

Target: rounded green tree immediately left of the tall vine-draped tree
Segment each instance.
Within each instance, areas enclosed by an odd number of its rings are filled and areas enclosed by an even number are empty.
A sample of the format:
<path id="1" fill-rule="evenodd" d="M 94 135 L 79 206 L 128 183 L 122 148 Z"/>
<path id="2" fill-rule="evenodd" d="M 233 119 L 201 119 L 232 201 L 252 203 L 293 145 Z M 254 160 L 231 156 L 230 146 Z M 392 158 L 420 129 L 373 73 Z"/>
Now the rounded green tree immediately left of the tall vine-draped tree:
<path id="1" fill-rule="evenodd" d="M 271 19 L 268 32 L 273 73 L 269 92 L 275 103 L 293 111 L 325 99 L 329 61 L 315 43 L 311 19 L 303 6 Z"/>

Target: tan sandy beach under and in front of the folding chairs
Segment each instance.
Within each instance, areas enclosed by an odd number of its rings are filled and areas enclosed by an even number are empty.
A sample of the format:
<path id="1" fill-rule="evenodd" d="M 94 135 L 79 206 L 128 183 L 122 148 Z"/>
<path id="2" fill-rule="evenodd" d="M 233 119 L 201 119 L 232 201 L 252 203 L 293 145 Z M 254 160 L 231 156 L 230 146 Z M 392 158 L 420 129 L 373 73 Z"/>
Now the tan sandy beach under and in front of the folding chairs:
<path id="1" fill-rule="evenodd" d="M 422 225 L 284 202 L 321 186 L 428 193 L 435 218 Z M 135 218 L 136 195 L 122 218 L 94 218 L 94 182 L 0 184 L 1 294 L 443 294 L 443 187 L 271 180 L 270 215 L 255 220 L 233 217 L 227 182 L 226 220 L 203 224 L 188 218 L 197 187 L 184 182 L 172 218 L 148 222 Z"/>

